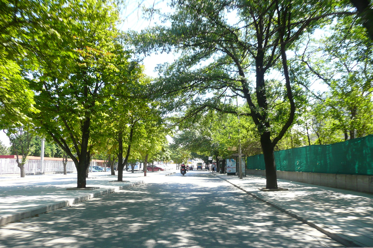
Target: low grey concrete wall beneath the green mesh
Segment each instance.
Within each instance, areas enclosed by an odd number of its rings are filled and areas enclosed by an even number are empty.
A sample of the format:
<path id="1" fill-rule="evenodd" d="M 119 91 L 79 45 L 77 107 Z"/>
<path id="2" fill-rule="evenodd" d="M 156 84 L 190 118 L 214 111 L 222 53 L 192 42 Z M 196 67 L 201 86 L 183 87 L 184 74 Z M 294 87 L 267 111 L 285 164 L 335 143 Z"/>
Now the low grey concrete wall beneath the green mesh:
<path id="1" fill-rule="evenodd" d="M 246 169 L 246 174 L 265 176 L 266 170 Z M 373 193 L 372 175 L 345 175 L 297 171 L 277 171 L 277 178 L 338 189 Z"/>

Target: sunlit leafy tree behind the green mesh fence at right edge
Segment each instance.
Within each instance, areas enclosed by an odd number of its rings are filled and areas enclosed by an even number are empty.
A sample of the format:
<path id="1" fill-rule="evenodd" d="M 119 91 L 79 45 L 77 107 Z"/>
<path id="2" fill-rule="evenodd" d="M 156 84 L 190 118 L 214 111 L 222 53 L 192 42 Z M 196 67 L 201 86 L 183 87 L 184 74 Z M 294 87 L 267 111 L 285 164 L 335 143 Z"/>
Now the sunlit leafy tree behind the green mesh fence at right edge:
<path id="1" fill-rule="evenodd" d="M 340 20 L 329 34 L 315 41 L 312 54 L 300 55 L 314 77 L 330 90 L 315 96 L 312 107 L 320 144 L 373 133 L 371 41 L 355 18 L 346 16 Z M 332 134 L 339 136 L 332 138 Z"/>

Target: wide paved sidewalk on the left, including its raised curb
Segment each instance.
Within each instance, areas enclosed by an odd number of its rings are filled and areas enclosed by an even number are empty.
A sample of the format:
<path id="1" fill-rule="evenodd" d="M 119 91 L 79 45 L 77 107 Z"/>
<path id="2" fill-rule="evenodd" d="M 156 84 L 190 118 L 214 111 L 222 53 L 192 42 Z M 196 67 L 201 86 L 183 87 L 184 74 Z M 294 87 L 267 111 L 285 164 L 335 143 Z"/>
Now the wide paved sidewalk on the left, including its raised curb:
<path id="1" fill-rule="evenodd" d="M 20 178 L 19 175 L 18 177 L 1 175 L 0 226 L 142 184 L 143 175 L 143 173 L 123 173 L 123 180 L 126 182 L 110 182 L 117 180 L 117 175 L 110 175 L 110 172 L 91 173 L 90 178 L 87 178 L 87 187 L 99 187 L 94 190 L 66 190 L 66 188 L 76 187 L 76 173 L 29 175 L 25 178 Z"/>

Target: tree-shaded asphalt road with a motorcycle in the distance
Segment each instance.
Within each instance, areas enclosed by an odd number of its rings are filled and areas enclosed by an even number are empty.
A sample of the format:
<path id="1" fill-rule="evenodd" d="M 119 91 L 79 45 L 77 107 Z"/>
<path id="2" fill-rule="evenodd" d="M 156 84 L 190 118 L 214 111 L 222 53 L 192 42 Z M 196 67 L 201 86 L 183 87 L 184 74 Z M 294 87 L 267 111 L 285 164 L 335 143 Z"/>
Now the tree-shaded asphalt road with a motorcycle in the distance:
<path id="1" fill-rule="evenodd" d="M 0 247 L 341 247 L 206 171 L 145 184 L 0 227 Z"/>

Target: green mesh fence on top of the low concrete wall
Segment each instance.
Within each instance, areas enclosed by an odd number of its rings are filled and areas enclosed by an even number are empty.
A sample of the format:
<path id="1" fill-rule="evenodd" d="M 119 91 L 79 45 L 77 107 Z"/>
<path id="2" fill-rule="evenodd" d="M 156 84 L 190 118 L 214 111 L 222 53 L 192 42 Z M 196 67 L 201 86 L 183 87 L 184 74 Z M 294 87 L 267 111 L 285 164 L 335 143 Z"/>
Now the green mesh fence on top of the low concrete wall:
<path id="1" fill-rule="evenodd" d="M 331 145 L 310 145 L 275 152 L 280 171 L 373 175 L 373 135 Z M 247 158 L 248 169 L 265 170 L 263 154 Z"/>

